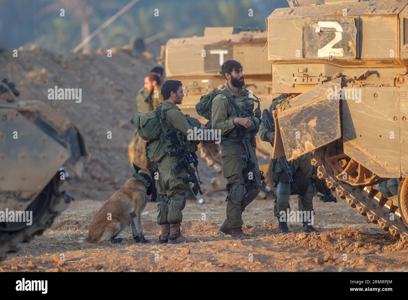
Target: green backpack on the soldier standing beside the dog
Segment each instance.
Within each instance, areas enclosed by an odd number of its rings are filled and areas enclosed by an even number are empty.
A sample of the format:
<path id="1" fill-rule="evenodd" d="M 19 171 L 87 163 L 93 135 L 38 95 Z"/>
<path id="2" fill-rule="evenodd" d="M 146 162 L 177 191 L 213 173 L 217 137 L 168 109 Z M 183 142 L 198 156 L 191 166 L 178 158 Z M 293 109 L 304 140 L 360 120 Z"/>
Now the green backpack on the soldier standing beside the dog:
<path id="1" fill-rule="evenodd" d="M 170 106 L 165 106 L 162 108 L 160 105 L 159 107 L 163 119 L 164 119 L 163 111 L 173 109 L 173 107 Z M 160 135 L 162 133 L 162 127 L 160 126 L 159 120 L 157 120 L 156 115 L 156 111 L 157 109 L 159 109 L 159 107 L 157 107 L 153 111 L 149 111 L 146 113 L 138 111 L 133 115 L 133 118 L 130 121 L 133 125 L 136 126 L 137 133 L 139 134 L 139 136 L 145 141 L 151 141 L 160 138 Z"/>

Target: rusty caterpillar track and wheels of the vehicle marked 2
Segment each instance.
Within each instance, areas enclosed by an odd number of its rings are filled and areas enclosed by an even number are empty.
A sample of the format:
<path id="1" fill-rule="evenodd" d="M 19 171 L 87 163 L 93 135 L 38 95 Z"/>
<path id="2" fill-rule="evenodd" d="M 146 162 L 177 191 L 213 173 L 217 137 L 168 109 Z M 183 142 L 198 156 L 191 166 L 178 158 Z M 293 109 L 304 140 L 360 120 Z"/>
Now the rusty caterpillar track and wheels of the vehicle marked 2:
<path id="1" fill-rule="evenodd" d="M 393 237 L 408 242 L 408 224 L 405 221 L 408 218 L 408 197 L 399 196 L 398 201 L 392 197 L 383 197 L 372 184 L 384 179 L 363 169 L 362 166 L 356 167 L 356 164 L 343 153 L 341 140 L 316 149 L 311 162 L 317 166 L 317 176 L 326 181 L 328 188 L 336 191 L 337 195 L 346 200 L 350 207 L 357 209 L 361 216 L 366 216 L 368 222 L 378 224 Z M 351 170 L 347 180 L 342 176 L 344 170 Z M 398 195 L 408 195 L 408 181 L 403 182 L 406 185 L 400 185 Z M 401 202 L 401 208 L 397 207 L 397 202 Z M 405 212 L 403 205 L 406 205 Z"/>

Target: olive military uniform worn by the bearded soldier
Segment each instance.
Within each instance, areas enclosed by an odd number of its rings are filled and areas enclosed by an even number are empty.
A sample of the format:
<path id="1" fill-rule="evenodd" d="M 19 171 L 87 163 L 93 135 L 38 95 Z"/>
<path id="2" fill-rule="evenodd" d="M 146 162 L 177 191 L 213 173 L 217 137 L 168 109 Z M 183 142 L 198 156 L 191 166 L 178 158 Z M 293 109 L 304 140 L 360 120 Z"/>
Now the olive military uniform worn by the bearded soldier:
<path id="1" fill-rule="evenodd" d="M 231 234 L 230 229 L 240 229 L 242 233 L 242 212 L 259 194 L 261 188 L 261 173 L 259 171 L 258 160 L 256 157 L 255 136 L 259 129 L 259 120 L 253 116 L 254 103 L 248 98 L 248 92 L 244 88 L 239 88 L 238 97 L 228 87 L 218 93 L 212 103 L 212 129 L 221 131 L 221 158 L 222 172 L 227 179 L 227 209 L 226 221 L 220 228 L 220 231 Z M 235 105 L 234 105 L 235 103 Z M 238 109 L 238 111 L 237 111 Z M 243 128 L 248 149 L 255 164 L 253 178 L 255 184 L 251 186 L 248 180 L 248 170 L 244 167 L 241 155 L 244 148 L 240 143 L 238 131 L 233 124 L 236 117 L 248 118 L 253 121 L 251 128 Z M 228 229 L 226 231 L 223 230 Z M 232 234 L 233 235 L 233 234 Z M 235 237 L 233 235 L 233 237 Z M 239 238 L 239 237 L 238 237 Z"/>

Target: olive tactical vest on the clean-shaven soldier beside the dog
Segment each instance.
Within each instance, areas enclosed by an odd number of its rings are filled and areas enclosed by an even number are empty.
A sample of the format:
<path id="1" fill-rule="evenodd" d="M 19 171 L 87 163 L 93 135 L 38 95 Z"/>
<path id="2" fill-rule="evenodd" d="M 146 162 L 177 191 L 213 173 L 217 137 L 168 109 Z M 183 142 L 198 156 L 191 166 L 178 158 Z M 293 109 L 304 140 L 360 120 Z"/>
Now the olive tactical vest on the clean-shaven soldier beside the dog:
<path id="1" fill-rule="evenodd" d="M 159 138 L 155 140 L 149 140 L 146 143 L 145 157 L 146 157 L 146 160 L 148 160 L 149 162 L 158 162 L 164 156 L 166 156 L 167 153 L 175 150 L 173 147 L 171 147 L 172 145 L 171 140 L 163 137 L 167 133 L 167 131 L 171 129 L 171 127 L 167 126 L 165 122 L 165 119 L 166 119 L 165 111 L 169 109 L 176 109 L 176 108 L 166 106 L 165 109 L 162 110 L 162 105 L 160 105 L 159 107 L 157 107 L 157 109 L 154 110 L 162 118 L 162 125 L 160 125 L 162 130 L 159 135 Z M 189 115 L 185 115 L 185 117 L 186 117 L 188 124 L 190 124 L 192 127 L 200 128 L 201 123 L 197 119 L 192 118 Z M 184 149 L 186 149 L 187 152 L 191 153 L 191 152 L 197 151 L 197 144 L 199 142 L 197 143 L 194 140 L 187 140 L 187 137 L 181 131 L 178 131 L 176 129 L 174 129 L 174 131 L 176 132 L 177 140 L 180 142 L 180 145 Z"/>

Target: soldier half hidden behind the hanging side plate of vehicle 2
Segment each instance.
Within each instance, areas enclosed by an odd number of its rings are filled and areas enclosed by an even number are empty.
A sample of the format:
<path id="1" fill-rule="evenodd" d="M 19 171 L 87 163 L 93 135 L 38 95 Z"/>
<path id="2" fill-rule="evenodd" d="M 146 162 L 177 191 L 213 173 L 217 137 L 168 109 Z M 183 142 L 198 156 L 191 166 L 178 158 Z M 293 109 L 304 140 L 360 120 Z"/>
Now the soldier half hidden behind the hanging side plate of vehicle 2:
<path id="1" fill-rule="evenodd" d="M 269 115 L 271 118 L 272 111 L 276 109 L 277 104 L 280 104 L 287 98 L 287 95 L 281 95 L 272 100 L 272 104 L 269 107 Z M 275 139 L 275 132 L 269 131 L 266 120 L 261 118 L 261 124 L 259 126 L 259 138 L 266 142 L 271 142 L 273 144 Z M 284 126 L 282 124 L 281 126 Z M 277 182 L 276 189 L 276 200 L 275 206 L 273 208 L 273 213 L 279 221 L 279 233 L 289 233 L 290 230 L 287 224 L 287 212 L 290 210 L 289 197 L 290 195 L 298 195 L 298 207 L 299 211 L 303 214 L 303 228 L 305 232 L 317 231 L 313 225 L 308 224 L 307 216 L 311 218 L 314 214 L 313 210 L 313 195 L 315 192 L 315 186 L 313 185 L 313 166 L 310 162 L 312 158 L 311 153 L 306 153 L 303 156 L 289 162 L 289 167 L 292 169 L 293 182 L 290 183 L 284 169 L 282 168 L 279 160 L 274 159 L 272 164 L 272 180 Z M 281 221 L 281 216 L 283 221 Z"/>

